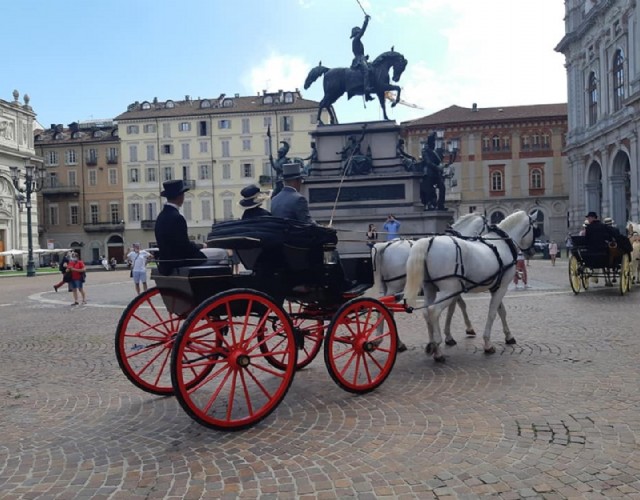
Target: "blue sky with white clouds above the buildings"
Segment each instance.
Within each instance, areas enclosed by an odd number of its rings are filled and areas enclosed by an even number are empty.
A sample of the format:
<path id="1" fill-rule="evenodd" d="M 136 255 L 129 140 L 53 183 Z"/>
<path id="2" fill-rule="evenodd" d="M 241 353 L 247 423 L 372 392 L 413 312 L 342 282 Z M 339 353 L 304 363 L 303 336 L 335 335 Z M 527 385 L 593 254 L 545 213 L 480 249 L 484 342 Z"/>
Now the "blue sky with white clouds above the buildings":
<path id="1" fill-rule="evenodd" d="M 302 91 L 309 70 L 351 64 L 351 28 L 371 60 L 409 61 L 403 122 L 451 105 L 567 101 L 563 0 L 20 0 L 2 6 L 0 98 L 17 89 L 45 127 L 114 118 L 135 101 Z M 342 123 L 382 118 L 377 101 L 341 98 Z"/>

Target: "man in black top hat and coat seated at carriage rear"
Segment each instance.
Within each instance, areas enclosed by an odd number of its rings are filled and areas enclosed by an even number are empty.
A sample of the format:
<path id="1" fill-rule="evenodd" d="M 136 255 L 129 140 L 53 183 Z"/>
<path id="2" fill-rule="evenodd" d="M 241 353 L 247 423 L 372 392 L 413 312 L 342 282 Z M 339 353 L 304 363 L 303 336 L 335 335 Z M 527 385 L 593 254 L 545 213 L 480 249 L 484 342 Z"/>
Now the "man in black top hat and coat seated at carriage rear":
<path id="1" fill-rule="evenodd" d="M 164 196 L 167 203 L 156 220 L 155 234 L 159 250 L 158 270 L 166 275 L 177 267 L 203 264 L 207 257 L 189 239 L 187 221 L 180 213 L 184 193 L 189 188 L 181 179 L 166 181 L 162 187 L 160 196 Z"/>

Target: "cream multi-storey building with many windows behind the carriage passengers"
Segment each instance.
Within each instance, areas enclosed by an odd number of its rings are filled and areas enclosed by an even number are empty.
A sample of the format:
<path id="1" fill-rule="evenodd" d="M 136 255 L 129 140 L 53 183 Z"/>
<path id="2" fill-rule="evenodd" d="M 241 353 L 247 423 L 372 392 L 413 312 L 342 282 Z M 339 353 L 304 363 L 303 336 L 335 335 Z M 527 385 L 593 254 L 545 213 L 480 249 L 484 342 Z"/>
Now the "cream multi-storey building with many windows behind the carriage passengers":
<path id="1" fill-rule="evenodd" d="M 271 189 L 270 150 L 277 157 L 286 141 L 289 157 L 309 156 L 317 109 L 318 103 L 298 90 L 131 104 L 116 117 L 126 244 L 155 243 L 162 183 L 170 179 L 184 179 L 191 187 L 182 213 L 194 240 L 204 241 L 214 222 L 241 217 L 237 202 L 243 187 L 256 183 Z"/>

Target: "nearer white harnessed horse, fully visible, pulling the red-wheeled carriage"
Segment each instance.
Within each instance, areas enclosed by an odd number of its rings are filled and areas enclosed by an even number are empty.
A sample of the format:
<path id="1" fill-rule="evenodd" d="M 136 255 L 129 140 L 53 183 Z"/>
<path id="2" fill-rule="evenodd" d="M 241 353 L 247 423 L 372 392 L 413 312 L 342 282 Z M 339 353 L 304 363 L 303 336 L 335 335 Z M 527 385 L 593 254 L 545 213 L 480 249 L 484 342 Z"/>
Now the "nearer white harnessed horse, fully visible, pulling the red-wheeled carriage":
<path id="1" fill-rule="evenodd" d="M 440 349 L 440 314 L 465 292 L 491 292 L 483 334 L 485 353 L 495 352 L 491 327 L 496 313 L 505 325 L 505 342 L 516 343 L 507 325 L 502 299 L 516 272 L 517 247 L 528 250 L 533 245 L 536 217 L 537 212 L 529 216 L 519 210 L 477 239 L 432 236 L 413 245 L 407 262 L 404 296 L 409 305 L 415 305 L 418 292 L 421 288 L 424 290 L 423 314 L 429 333 L 426 352 L 432 354 L 435 361 L 445 360 Z"/>

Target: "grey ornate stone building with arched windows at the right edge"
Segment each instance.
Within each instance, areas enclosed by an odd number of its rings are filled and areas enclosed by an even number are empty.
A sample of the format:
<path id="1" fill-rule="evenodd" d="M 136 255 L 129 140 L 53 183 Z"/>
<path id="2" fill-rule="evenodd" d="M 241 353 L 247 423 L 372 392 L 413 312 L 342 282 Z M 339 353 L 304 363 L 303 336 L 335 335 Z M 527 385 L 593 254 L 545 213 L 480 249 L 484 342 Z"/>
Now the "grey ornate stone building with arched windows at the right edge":
<path id="1" fill-rule="evenodd" d="M 635 0 L 565 0 L 570 224 L 640 220 L 640 16 Z"/>

